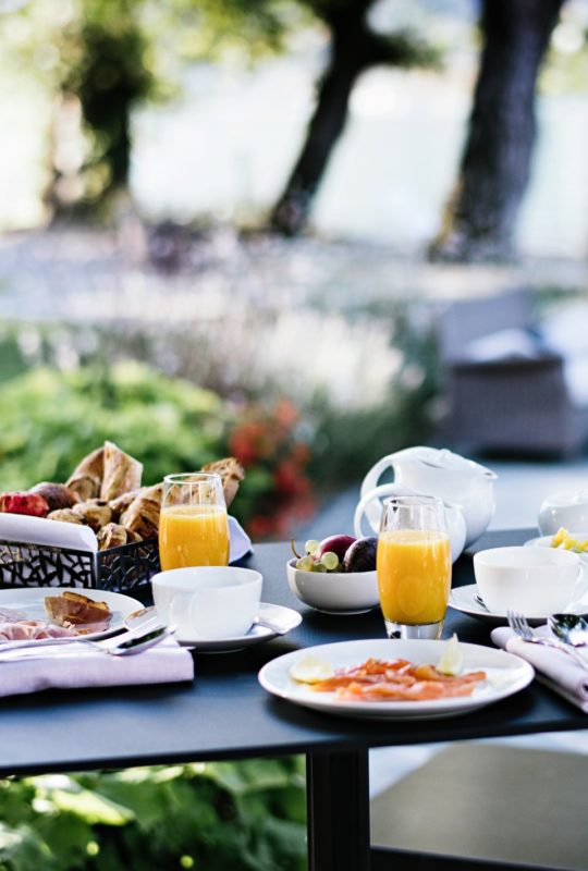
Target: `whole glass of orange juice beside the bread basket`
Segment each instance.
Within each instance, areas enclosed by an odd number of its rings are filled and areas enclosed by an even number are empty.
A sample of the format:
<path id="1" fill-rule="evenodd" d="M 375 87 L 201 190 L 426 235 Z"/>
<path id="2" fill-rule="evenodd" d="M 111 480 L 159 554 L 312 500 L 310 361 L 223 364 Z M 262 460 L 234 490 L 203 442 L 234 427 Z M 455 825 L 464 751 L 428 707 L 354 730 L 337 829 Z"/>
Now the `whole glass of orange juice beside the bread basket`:
<path id="1" fill-rule="evenodd" d="M 229 522 L 219 475 L 167 475 L 159 515 L 161 568 L 229 564 Z"/>

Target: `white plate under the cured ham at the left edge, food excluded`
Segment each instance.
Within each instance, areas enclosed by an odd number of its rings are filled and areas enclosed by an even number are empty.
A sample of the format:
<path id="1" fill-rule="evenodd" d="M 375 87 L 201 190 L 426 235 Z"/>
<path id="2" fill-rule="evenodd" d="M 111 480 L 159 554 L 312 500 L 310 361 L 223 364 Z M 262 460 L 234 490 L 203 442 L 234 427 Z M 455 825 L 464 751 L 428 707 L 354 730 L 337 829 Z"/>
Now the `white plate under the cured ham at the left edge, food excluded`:
<path id="1" fill-rule="evenodd" d="M 108 629 L 103 633 L 89 633 L 84 635 L 84 638 L 106 638 L 108 635 L 123 629 L 124 621 L 128 614 L 140 608 L 140 602 L 130 596 L 108 590 L 88 590 L 85 587 L 23 587 L 22 589 L 0 590 L 0 606 L 23 611 L 27 619 L 47 621 L 45 597 L 60 596 L 66 590 L 79 592 L 82 596 L 87 596 L 88 599 L 95 599 L 98 602 L 106 602 L 112 612 Z"/>

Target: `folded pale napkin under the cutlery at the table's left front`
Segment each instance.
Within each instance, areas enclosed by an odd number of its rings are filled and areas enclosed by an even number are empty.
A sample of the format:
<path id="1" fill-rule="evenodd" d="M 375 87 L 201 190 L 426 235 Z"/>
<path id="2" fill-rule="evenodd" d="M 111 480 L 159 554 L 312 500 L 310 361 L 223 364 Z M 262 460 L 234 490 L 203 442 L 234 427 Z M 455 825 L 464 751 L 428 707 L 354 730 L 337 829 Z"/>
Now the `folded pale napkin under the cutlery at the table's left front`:
<path id="1" fill-rule="evenodd" d="M 17 659 L 14 659 L 17 657 Z M 0 648 L 0 697 L 41 689 L 170 684 L 194 678 L 194 660 L 173 638 L 132 657 L 109 657 L 83 645 L 4 653 Z"/>

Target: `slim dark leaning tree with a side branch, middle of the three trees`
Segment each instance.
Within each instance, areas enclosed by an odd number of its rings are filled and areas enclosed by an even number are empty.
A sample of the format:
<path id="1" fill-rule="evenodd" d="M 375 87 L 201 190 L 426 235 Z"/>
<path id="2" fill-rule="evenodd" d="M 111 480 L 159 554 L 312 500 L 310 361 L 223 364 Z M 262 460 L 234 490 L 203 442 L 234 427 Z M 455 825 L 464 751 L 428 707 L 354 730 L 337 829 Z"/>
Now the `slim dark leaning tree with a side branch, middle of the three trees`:
<path id="1" fill-rule="evenodd" d="M 330 33 L 330 57 L 319 83 L 317 105 L 284 192 L 270 218 L 273 230 L 299 233 L 308 219 L 332 149 L 347 118 L 358 76 L 371 66 L 438 68 L 439 52 L 408 32 L 380 34 L 368 14 L 376 0 L 298 0 Z"/>

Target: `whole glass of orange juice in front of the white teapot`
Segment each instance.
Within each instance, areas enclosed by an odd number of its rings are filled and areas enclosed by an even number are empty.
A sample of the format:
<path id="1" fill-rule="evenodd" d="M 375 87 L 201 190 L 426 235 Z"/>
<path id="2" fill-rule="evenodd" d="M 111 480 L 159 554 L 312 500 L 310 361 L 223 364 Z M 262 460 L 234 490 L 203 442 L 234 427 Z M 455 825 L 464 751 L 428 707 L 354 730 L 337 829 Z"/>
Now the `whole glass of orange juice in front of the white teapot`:
<path id="1" fill-rule="evenodd" d="M 377 569 L 388 637 L 439 638 L 451 588 L 450 539 L 440 500 L 385 500 Z"/>

